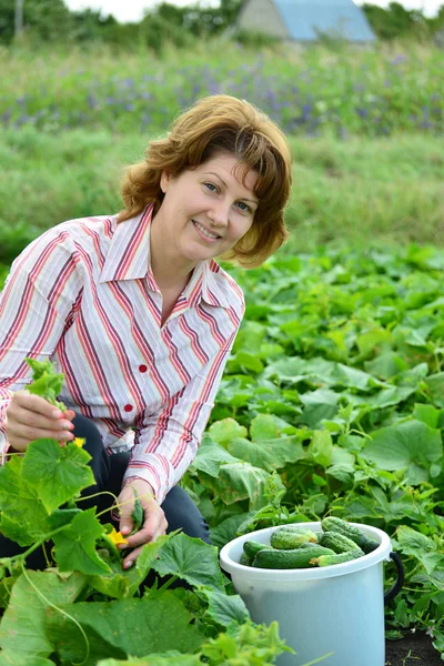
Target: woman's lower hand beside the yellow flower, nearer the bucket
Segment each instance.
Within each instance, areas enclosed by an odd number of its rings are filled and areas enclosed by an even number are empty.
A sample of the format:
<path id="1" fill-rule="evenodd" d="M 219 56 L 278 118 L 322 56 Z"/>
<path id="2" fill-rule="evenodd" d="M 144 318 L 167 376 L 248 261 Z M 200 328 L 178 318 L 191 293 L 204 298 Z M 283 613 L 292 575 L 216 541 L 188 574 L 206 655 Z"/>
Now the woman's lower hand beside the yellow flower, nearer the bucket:
<path id="1" fill-rule="evenodd" d="M 139 532 L 128 536 L 134 528 L 131 514 L 134 508 L 134 491 L 143 508 L 143 524 Z M 120 507 L 120 533 L 128 539 L 121 548 L 134 548 L 123 561 L 123 568 L 130 568 L 138 558 L 144 544 L 149 544 L 165 534 L 168 523 L 165 514 L 154 498 L 151 485 L 142 478 L 129 482 L 118 497 Z M 138 547 L 139 546 L 139 547 Z"/>

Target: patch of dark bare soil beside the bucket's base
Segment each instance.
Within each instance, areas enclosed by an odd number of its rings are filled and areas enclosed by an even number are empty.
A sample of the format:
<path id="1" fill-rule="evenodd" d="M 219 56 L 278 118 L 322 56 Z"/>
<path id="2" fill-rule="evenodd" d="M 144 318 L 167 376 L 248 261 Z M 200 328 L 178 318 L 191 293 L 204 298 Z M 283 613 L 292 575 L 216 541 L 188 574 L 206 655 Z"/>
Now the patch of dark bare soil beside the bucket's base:
<path id="1" fill-rule="evenodd" d="M 431 638 L 421 632 L 406 634 L 401 640 L 385 642 L 385 666 L 443 666 Z"/>

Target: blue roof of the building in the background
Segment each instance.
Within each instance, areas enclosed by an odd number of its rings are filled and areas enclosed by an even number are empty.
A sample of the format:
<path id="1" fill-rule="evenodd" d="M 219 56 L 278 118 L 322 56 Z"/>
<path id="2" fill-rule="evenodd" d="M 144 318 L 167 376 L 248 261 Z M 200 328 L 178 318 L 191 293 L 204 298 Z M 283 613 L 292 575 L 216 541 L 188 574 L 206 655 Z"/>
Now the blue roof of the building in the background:
<path id="1" fill-rule="evenodd" d="M 341 34 L 349 41 L 374 41 L 364 12 L 353 0 L 274 0 L 289 37 L 313 41 L 319 33 Z"/>

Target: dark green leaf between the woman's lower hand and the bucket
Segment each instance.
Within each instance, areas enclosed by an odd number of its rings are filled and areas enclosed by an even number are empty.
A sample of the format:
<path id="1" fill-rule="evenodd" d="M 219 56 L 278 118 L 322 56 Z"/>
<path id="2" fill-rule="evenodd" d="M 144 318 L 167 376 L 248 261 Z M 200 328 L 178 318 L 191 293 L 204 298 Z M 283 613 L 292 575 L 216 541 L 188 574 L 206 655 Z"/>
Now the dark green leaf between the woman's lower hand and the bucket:
<path id="1" fill-rule="evenodd" d="M 218 548 L 186 534 L 178 534 L 164 544 L 152 568 L 161 576 L 179 576 L 190 585 L 224 589 L 225 578 L 219 566 Z"/>

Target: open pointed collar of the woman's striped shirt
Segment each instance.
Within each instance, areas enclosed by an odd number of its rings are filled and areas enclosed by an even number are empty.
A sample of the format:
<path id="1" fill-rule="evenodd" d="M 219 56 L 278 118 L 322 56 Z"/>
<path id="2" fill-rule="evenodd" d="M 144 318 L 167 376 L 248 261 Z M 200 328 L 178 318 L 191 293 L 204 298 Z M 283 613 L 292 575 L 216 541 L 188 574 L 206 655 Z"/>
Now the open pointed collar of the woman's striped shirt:
<path id="1" fill-rule="evenodd" d="M 153 204 L 150 204 L 140 215 L 117 224 L 99 282 L 145 278 L 149 289 L 159 291 L 150 260 L 152 211 Z M 229 292 L 224 272 L 211 259 L 195 266 L 181 299 L 190 307 L 195 307 L 201 300 L 216 307 L 230 307 Z"/>

